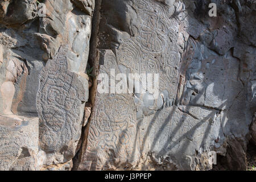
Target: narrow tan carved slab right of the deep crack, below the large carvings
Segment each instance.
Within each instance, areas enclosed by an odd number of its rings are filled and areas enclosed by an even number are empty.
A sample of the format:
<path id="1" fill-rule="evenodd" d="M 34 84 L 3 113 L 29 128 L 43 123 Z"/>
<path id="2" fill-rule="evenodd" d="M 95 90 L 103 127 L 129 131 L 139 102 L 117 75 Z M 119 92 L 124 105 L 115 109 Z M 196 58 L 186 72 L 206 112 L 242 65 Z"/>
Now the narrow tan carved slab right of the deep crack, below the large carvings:
<path id="1" fill-rule="evenodd" d="M 100 50 L 100 73 L 110 75 L 110 69 L 119 73 L 117 61 L 111 50 Z M 129 167 L 138 159 L 136 135 L 136 110 L 131 94 L 97 92 L 86 135 L 86 150 L 81 154 L 79 170 L 116 168 L 117 164 Z M 82 146 L 84 147 L 84 146 Z M 82 149 L 83 151 L 83 149 Z"/>

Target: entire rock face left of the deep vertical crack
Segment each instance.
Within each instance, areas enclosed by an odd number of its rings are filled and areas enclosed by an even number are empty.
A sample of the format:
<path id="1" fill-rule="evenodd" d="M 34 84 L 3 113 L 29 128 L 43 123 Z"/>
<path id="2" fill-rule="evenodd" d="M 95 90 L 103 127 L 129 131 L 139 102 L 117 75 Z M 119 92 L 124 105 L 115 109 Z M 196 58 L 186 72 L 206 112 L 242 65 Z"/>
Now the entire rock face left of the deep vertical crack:
<path id="1" fill-rule="evenodd" d="M 0 168 L 70 170 L 89 96 L 94 1 L 0 6 Z"/>

